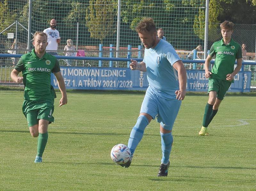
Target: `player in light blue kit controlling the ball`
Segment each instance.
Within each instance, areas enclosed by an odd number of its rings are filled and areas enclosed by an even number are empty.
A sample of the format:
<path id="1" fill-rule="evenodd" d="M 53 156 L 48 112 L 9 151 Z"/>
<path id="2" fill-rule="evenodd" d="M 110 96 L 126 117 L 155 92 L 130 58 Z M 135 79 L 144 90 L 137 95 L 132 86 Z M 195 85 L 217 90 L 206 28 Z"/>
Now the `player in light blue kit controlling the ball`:
<path id="1" fill-rule="evenodd" d="M 160 123 L 163 154 L 157 176 L 167 176 L 173 142 L 172 126 L 178 115 L 181 100 L 186 94 L 186 69 L 172 45 L 157 38 L 156 25 L 152 18 L 142 19 L 136 31 L 145 47 L 145 54 L 140 63 L 131 60 L 130 68 L 147 72 L 149 86 L 128 141 L 131 159 L 121 166 L 130 166 L 146 126 L 152 119 L 157 118 Z"/>

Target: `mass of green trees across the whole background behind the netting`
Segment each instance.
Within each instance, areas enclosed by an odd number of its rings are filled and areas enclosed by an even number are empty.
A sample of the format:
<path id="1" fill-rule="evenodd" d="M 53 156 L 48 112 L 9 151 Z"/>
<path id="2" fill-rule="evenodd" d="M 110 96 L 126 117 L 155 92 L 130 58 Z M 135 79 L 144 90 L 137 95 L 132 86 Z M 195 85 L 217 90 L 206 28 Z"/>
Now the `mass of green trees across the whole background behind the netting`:
<path id="1" fill-rule="evenodd" d="M 18 2 L 18 3 L 17 3 Z M 225 19 L 235 24 L 255 24 L 256 0 L 210 0 L 209 38 L 219 39 L 219 24 Z M 76 39 L 76 24 L 79 44 L 96 45 L 113 43 L 116 39 L 117 0 L 33 0 L 32 33 L 49 27 L 52 18 L 57 20 L 57 28 L 64 39 Z M 120 44 L 137 46 L 139 39 L 134 32 L 143 17 L 152 17 L 157 27 L 166 31 L 167 41 L 175 48 L 188 50 L 204 40 L 205 0 L 127 0 L 121 3 Z M 241 11 L 246 10 L 246 11 Z M 23 26 L 28 23 L 28 0 L 0 1 L 0 30 L 4 30 L 15 20 Z M 249 14 L 248 14 L 249 13 Z M 27 31 L 19 26 L 18 36 L 26 41 Z M 68 32 L 66 32 L 68 30 Z M 217 32 L 218 31 L 218 32 Z M 6 31 L 7 32 L 7 31 Z M 4 34 L 6 34 L 6 32 Z M 15 27 L 8 32 L 15 32 Z M 91 39 L 89 39 L 89 36 Z M 182 39 L 187 42 L 182 42 Z M 90 42 L 88 42 L 88 39 Z M 83 42 L 82 42 L 83 41 Z M 87 42 L 86 42 L 87 41 Z"/>

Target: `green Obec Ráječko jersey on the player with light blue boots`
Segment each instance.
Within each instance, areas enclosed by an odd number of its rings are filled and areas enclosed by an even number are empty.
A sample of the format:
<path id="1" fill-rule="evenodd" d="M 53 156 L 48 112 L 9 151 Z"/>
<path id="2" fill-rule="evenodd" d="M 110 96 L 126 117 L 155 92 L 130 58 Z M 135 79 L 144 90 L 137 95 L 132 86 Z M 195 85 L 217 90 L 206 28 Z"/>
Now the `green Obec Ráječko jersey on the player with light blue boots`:
<path id="1" fill-rule="evenodd" d="M 45 53 L 39 59 L 35 49 L 20 57 L 14 67 L 23 75 L 24 99 L 26 100 L 49 100 L 56 98 L 51 85 L 51 73 L 60 72 L 59 61 L 52 55 Z"/>

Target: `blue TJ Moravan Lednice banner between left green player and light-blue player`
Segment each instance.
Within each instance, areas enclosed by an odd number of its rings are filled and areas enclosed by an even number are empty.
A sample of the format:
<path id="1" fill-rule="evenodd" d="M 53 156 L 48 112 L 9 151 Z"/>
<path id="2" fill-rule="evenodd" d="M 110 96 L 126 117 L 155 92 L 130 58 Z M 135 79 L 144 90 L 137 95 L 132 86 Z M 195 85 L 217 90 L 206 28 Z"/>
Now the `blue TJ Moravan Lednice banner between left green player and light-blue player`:
<path id="1" fill-rule="evenodd" d="M 145 72 L 130 68 L 67 67 L 60 68 L 67 89 L 146 90 Z M 51 84 L 58 88 L 54 75 Z"/>

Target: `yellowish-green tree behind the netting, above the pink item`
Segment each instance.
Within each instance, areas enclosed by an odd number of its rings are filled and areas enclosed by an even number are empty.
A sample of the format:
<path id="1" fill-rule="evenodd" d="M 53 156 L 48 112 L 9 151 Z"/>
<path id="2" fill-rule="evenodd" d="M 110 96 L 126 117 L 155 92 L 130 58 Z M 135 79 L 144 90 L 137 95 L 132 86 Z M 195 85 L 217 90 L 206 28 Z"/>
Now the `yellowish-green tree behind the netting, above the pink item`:
<path id="1" fill-rule="evenodd" d="M 103 43 L 109 35 L 116 31 L 117 7 L 108 0 L 90 0 L 86 9 L 86 25 L 92 38 L 100 39 Z"/>

